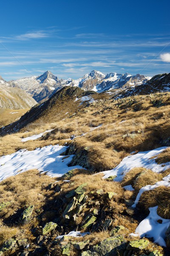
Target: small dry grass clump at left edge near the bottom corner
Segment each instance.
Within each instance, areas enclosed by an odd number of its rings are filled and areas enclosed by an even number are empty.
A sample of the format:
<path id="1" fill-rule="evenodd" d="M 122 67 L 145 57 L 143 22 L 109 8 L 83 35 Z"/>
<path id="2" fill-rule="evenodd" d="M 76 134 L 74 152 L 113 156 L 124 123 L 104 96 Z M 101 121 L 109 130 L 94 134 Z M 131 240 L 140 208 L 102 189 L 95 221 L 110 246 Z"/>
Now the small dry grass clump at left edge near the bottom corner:
<path id="1" fill-rule="evenodd" d="M 0 246 L 10 238 L 19 235 L 20 230 L 17 227 L 0 226 Z"/>

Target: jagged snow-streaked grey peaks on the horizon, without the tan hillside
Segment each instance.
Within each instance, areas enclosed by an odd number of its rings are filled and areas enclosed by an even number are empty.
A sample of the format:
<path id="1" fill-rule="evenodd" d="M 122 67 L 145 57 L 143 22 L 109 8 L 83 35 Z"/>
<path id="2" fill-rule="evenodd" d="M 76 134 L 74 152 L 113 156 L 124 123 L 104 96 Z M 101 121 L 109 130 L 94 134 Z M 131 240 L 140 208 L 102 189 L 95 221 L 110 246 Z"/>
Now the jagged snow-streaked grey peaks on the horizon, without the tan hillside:
<path id="1" fill-rule="evenodd" d="M 85 74 L 85 76 L 76 80 L 71 78 L 67 80 L 58 79 L 50 71 L 46 71 L 37 77 L 31 76 L 30 78 L 11 80 L 9 82 L 3 81 L 6 86 L 25 90 L 37 102 L 42 102 L 65 86 L 76 86 L 83 90 L 94 90 L 101 93 L 108 90 L 137 86 L 149 79 L 150 77 L 139 74 L 136 76 L 132 76 L 129 73 L 109 73 L 104 75 L 100 71 L 92 70 L 89 74 Z"/>

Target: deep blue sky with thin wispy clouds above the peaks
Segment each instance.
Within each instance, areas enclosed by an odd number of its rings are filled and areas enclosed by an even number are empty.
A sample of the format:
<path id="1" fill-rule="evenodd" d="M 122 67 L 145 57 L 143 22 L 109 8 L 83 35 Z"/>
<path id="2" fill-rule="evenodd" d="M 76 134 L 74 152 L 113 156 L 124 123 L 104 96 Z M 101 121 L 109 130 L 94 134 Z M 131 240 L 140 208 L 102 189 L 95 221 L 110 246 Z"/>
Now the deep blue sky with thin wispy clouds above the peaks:
<path id="1" fill-rule="evenodd" d="M 6 0 L 0 75 L 170 72 L 169 0 Z"/>

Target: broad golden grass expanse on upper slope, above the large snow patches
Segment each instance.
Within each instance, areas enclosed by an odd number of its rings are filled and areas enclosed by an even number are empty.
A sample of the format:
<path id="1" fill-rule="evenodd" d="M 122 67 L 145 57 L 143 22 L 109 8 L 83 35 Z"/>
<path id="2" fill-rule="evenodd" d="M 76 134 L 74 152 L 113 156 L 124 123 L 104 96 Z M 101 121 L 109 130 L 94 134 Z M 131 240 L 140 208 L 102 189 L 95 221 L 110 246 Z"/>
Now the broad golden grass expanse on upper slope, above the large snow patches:
<path id="1" fill-rule="evenodd" d="M 105 94 L 94 97 L 99 96 L 104 97 Z M 77 148 L 91 147 L 88 154 L 89 162 L 96 171 L 112 169 L 131 151 L 145 151 L 159 147 L 161 140 L 170 137 L 169 96 L 170 93 L 157 93 L 118 101 L 107 98 L 102 101 L 102 104 L 92 104 L 88 108 L 79 106 L 79 102 L 69 100 L 69 109 L 65 111 L 62 109 L 62 102 L 58 102 L 32 124 L 23 128 L 20 133 L 0 138 L 0 155 L 11 154 L 22 148 L 34 150 L 50 144 L 63 145 L 65 142 L 69 143 L 68 139 L 72 135 L 79 136 L 87 133 L 74 139 Z M 163 99 L 166 109 L 164 106 L 153 107 L 153 99 Z M 136 105 L 140 105 L 138 111 L 136 111 Z M 76 115 L 71 117 L 73 113 Z M 90 130 L 91 127 L 101 124 L 100 128 Z M 54 131 L 39 140 L 26 143 L 20 140 L 21 137 L 39 134 L 49 129 Z M 23 131 L 29 132 L 24 134 Z M 134 133 L 134 138 L 123 137 L 125 134 Z"/>

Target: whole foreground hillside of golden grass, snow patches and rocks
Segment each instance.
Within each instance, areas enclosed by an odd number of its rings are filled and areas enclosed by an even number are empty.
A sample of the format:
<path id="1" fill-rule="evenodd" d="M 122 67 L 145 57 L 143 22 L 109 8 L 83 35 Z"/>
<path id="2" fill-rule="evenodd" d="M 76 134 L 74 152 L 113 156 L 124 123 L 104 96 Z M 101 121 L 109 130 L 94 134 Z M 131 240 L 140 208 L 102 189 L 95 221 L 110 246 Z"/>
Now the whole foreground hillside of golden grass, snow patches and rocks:
<path id="1" fill-rule="evenodd" d="M 170 92 L 65 87 L 1 128 L 0 250 L 169 256 L 169 113 Z"/>

